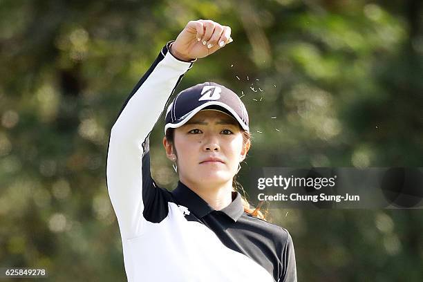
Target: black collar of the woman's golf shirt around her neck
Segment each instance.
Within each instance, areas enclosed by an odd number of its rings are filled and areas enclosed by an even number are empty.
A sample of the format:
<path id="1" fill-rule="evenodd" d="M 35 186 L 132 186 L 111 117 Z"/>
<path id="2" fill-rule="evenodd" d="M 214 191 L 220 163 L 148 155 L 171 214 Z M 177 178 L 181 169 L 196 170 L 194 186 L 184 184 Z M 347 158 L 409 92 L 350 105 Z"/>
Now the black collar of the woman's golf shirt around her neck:
<path id="1" fill-rule="evenodd" d="M 193 212 L 196 216 L 203 218 L 207 214 L 214 212 L 214 208 L 203 198 L 198 196 L 194 191 L 189 189 L 185 184 L 178 181 L 178 186 L 172 191 L 173 197 L 183 206 L 187 207 L 189 211 Z M 227 207 L 220 209 L 229 218 L 236 222 L 244 212 L 243 204 L 241 203 L 241 194 L 232 191 L 232 203 Z"/>

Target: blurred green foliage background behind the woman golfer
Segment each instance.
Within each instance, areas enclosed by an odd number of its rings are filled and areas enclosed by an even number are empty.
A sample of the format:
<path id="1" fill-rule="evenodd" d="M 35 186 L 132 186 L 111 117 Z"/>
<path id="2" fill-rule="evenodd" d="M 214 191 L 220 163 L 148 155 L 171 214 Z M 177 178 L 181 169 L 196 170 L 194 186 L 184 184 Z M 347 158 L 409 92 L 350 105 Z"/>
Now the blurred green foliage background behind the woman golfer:
<path id="1" fill-rule="evenodd" d="M 106 188 L 109 131 L 191 19 L 232 27 L 234 42 L 198 60 L 177 91 L 215 81 L 244 95 L 253 139 L 241 183 L 252 166 L 423 167 L 422 6 L 0 1 L 0 267 L 126 280 Z M 153 177 L 172 189 L 162 128 Z M 423 281 L 421 209 L 281 209 L 272 222 L 292 234 L 299 281 Z"/>

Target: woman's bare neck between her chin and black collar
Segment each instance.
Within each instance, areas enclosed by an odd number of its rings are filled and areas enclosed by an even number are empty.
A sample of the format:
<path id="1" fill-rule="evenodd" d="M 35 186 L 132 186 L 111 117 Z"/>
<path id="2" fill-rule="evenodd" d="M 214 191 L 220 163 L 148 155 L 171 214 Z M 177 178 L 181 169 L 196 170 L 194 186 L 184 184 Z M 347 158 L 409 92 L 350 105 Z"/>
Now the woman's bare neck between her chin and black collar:
<path id="1" fill-rule="evenodd" d="M 214 185 L 213 187 L 206 187 L 203 183 L 191 183 L 185 180 L 180 181 L 200 196 L 200 198 L 205 200 L 205 202 L 216 211 L 232 203 L 232 180 L 221 185 Z"/>

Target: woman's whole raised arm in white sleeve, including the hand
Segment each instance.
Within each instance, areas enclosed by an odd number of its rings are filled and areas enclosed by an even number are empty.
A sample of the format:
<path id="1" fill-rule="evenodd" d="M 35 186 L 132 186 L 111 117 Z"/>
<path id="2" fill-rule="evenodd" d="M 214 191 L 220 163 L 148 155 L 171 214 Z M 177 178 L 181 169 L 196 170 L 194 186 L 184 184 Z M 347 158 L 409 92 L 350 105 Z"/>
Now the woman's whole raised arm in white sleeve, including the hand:
<path id="1" fill-rule="evenodd" d="M 143 185 L 142 155 L 148 151 L 149 133 L 169 96 L 191 68 L 192 62 L 185 61 L 214 53 L 225 45 L 218 42 L 226 42 L 229 35 L 229 28 L 213 21 L 190 21 L 176 41 L 162 48 L 122 106 L 111 129 L 106 165 L 107 187 L 122 238 L 137 236 L 142 231 L 146 194 L 142 189 L 155 189 L 153 182 Z"/>

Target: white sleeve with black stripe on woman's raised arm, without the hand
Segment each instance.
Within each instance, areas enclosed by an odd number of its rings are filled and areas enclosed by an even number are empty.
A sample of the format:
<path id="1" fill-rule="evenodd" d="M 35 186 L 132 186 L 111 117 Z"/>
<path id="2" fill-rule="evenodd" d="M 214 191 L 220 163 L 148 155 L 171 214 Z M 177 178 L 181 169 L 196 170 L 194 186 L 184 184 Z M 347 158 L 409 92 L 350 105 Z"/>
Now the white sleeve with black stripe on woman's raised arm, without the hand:
<path id="1" fill-rule="evenodd" d="M 122 236 L 135 236 L 144 208 L 142 142 L 160 117 L 182 75 L 191 66 L 162 48 L 124 103 L 111 129 L 107 155 L 107 187 Z"/>

